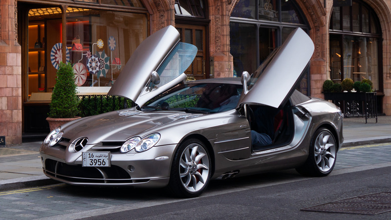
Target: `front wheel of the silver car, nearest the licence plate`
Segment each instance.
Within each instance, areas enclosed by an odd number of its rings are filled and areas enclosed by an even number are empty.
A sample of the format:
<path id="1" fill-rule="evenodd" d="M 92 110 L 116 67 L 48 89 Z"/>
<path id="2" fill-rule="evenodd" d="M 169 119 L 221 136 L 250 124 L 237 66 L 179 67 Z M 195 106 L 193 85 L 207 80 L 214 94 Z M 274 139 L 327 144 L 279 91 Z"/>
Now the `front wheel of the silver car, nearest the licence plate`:
<path id="1" fill-rule="evenodd" d="M 211 179 L 212 163 L 205 144 L 188 139 L 179 145 L 171 165 L 168 189 L 178 197 L 197 197 Z"/>

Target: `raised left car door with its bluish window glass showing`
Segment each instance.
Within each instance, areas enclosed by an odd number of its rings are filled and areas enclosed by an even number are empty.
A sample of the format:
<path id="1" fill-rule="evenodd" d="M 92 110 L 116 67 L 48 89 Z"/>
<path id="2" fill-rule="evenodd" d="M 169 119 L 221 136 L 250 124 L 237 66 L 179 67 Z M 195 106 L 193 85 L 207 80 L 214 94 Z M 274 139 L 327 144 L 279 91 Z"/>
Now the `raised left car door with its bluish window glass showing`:
<path id="1" fill-rule="evenodd" d="M 168 89 L 170 86 L 166 85 L 170 82 L 176 84 L 185 79 L 183 72 L 192 63 L 197 47 L 179 40 L 179 32 L 173 26 L 146 38 L 133 52 L 107 94 L 129 98 L 141 106 Z"/>

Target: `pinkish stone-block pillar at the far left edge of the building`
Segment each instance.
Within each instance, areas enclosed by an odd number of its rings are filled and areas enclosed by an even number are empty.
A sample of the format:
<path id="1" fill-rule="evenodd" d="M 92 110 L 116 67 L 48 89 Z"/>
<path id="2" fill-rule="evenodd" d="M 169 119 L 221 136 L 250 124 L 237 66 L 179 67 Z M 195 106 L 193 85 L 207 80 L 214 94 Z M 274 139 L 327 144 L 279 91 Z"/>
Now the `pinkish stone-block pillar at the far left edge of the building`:
<path id="1" fill-rule="evenodd" d="M 0 3 L 0 137 L 22 143 L 21 47 L 17 42 L 14 0 Z"/>

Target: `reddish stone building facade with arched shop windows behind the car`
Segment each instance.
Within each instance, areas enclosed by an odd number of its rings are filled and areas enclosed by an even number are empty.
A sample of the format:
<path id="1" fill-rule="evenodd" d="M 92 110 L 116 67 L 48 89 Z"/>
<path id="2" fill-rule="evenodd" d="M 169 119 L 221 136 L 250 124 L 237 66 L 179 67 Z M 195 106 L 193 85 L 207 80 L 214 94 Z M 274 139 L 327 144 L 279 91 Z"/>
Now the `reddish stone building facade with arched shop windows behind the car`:
<path id="1" fill-rule="evenodd" d="M 336 1 L 338 2 L 338 1 Z M 0 145 L 42 132 L 58 63 L 80 93 L 104 94 L 135 48 L 172 25 L 198 47 L 194 79 L 252 72 L 297 27 L 315 44 L 298 89 L 323 97 L 326 79 L 371 79 L 391 115 L 391 8 L 384 0 L 4 0 L 0 3 Z"/>

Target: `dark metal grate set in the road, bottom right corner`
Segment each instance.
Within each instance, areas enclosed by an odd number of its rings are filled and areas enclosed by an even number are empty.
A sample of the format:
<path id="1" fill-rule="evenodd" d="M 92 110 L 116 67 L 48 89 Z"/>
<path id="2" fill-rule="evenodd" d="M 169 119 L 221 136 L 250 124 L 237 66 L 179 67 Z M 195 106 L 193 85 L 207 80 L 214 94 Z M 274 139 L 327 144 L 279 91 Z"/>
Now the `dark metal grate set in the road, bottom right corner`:
<path id="1" fill-rule="evenodd" d="M 379 192 L 301 209 L 353 214 L 379 214 L 391 210 L 391 192 Z"/>

